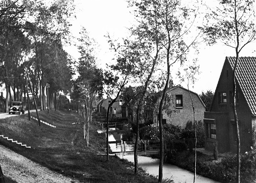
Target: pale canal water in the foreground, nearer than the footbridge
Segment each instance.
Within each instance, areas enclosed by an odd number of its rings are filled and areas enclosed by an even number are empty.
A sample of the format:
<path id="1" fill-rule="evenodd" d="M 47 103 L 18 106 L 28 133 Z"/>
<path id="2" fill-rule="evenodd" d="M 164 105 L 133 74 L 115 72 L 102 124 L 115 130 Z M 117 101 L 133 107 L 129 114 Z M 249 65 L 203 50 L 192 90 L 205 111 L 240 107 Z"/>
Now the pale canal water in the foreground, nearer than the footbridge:
<path id="1" fill-rule="evenodd" d="M 134 156 L 124 156 L 124 159 L 134 163 Z M 145 169 L 148 174 L 158 176 L 159 159 L 151 157 L 138 156 L 138 165 Z M 174 183 L 193 183 L 194 174 L 188 170 L 184 170 L 178 166 L 164 163 L 163 164 L 163 178 L 173 179 Z M 221 183 L 214 181 L 207 177 L 197 175 L 196 183 Z"/>

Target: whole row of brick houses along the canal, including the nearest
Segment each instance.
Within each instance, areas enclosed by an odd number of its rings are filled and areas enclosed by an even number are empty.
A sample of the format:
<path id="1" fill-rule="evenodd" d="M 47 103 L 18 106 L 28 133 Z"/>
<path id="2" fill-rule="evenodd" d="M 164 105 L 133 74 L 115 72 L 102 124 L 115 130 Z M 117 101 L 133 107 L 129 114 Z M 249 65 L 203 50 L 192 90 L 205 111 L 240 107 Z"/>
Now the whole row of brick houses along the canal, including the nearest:
<path id="1" fill-rule="evenodd" d="M 210 111 L 205 110 L 205 105 L 197 93 L 191 91 L 191 97 L 195 106 L 195 117 L 197 121 L 203 120 L 205 126 L 205 148 L 213 150 L 215 142 L 218 142 L 219 152 L 236 152 L 236 126 L 233 114 L 233 83 L 232 73 L 235 57 L 226 57 L 219 77 L 219 81 L 211 102 Z M 236 108 L 239 123 L 241 151 L 250 150 L 256 135 L 256 57 L 239 57 L 236 70 Z M 192 103 L 189 91 L 181 86 L 168 89 L 167 94 L 173 96 L 173 107 L 175 112 L 168 116 L 163 111 L 162 121 L 186 126 L 188 120 L 193 120 Z M 95 101 L 94 112 L 98 116 L 106 116 L 106 111 L 111 99 Z M 146 110 L 145 110 L 146 111 Z M 134 114 L 126 102 L 117 98 L 111 106 L 111 117 L 133 118 Z M 158 123 L 157 115 L 146 111 L 145 116 L 150 120 L 142 120 L 145 123 Z"/>

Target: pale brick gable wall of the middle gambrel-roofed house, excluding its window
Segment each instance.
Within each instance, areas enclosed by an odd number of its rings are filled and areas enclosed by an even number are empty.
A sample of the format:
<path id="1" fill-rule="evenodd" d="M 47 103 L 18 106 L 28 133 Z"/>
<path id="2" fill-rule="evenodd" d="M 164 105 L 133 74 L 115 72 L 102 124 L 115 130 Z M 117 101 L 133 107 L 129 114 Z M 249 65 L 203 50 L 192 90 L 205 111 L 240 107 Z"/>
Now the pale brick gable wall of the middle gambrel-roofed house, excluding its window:
<path id="1" fill-rule="evenodd" d="M 185 128 L 187 120 L 193 121 L 193 108 L 189 92 L 181 87 L 177 87 L 176 89 L 173 89 L 168 93 L 174 96 L 174 105 L 175 95 L 182 95 L 183 107 L 177 109 L 177 113 L 172 113 L 171 123 L 174 125 L 180 125 L 182 128 Z M 193 98 L 193 104 L 195 106 L 195 120 L 203 120 L 205 111 L 204 105 L 200 102 L 196 94 L 191 92 L 191 96 Z M 163 111 L 163 119 L 166 119 L 167 123 L 169 123 L 170 121 L 170 118 L 166 115 L 165 111 Z"/>

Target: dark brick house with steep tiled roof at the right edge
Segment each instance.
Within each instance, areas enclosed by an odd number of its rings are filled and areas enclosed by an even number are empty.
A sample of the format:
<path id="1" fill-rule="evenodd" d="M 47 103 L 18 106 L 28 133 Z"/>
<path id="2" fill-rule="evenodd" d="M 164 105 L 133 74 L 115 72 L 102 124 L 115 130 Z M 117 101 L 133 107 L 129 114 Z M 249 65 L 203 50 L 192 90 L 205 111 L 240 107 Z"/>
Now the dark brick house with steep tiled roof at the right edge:
<path id="1" fill-rule="evenodd" d="M 232 72 L 236 57 L 226 57 L 211 102 L 204 112 L 205 148 L 219 152 L 236 152 L 236 126 L 233 115 Z M 240 131 L 241 152 L 250 150 L 252 132 L 256 128 L 256 57 L 239 57 L 236 70 L 236 109 Z"/>

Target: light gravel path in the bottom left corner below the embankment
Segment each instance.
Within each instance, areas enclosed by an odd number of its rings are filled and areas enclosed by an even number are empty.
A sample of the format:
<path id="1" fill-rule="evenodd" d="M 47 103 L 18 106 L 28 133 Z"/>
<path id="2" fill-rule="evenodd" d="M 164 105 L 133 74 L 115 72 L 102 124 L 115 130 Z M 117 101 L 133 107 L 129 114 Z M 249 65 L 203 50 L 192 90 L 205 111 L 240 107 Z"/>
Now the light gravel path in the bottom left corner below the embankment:
<path id="1" fill-rule="evenodd" d="M 41 166 L 0 145 L 0 163 L 4 176 L 18 183 L 78 183 Z"/>

